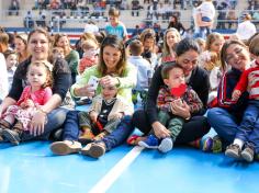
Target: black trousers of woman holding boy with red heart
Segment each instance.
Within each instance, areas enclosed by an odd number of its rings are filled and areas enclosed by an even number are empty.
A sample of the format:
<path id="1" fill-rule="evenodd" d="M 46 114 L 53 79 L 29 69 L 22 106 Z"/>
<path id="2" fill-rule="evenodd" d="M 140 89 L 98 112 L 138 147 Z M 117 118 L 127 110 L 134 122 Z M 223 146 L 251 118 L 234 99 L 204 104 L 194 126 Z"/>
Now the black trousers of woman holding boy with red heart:
<path id="1" fill-rule="evenodd" d="M 151 129 L 148 117 L 145 111 L 138 110 L 133 114 L 133 125 L 137 127 L 145 135 Z M 211 126 L 205 116 L 193 116 L 183 124 L 182 130 L 177 137 L 177 144 L 187 144 L 201 138 L 210 130 Z"/>

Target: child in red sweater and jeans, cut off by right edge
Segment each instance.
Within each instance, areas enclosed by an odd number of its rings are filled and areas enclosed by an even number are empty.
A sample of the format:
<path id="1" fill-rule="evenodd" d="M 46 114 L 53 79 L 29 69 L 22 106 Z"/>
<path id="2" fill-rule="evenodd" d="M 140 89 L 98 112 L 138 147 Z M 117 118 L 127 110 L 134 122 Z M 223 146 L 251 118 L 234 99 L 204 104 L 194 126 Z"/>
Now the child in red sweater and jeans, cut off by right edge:
<path id="1" fill-rule="evenodd" d="M 252 56 L 255 56 L 255 66 L 243 72 L 232 95 L 233 101 L 238 101 L 241 93 L 248 91 L 249 102 L 243 115 L 243 121 L 238 126 L 236 137 L 233 144 L 226 148 L 225 155 L 236 159 L 243 158 L 246 161 L 251 162 L 254 160 L 255 151 L 258 149 L 258 144 L 250 143 L 249 138 L 259 115 L 259 38 L 252 39 L 252 42 L 249 44 L 249 52 Z"/>

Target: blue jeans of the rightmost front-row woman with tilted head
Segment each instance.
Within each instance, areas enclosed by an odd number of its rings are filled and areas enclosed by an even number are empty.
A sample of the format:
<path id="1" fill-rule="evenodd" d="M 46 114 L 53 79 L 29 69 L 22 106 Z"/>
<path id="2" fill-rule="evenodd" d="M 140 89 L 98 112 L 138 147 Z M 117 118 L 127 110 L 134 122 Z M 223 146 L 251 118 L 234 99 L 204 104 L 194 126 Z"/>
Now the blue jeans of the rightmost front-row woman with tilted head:
<path id="1" fill-rule="evenodd" d="M 225 145 L 233 143 L 238 132 L 238 121 L 229 112 L 222 107 L 213 107 L 207 111 L 207 121 L 223 139 Z M 256 154 L 259 154 L 259 121 L 255 123 L 255 127 L 248 136 L 248 144 L 251 144 Z"/>

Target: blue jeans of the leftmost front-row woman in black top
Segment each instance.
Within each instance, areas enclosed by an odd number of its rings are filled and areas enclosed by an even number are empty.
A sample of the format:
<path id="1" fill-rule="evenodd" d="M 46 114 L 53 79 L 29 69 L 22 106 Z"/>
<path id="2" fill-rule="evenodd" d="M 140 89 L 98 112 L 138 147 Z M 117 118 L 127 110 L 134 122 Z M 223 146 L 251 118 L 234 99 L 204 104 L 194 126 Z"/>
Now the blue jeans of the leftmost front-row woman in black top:
<path id="1" fill-rule="evenodd" d="M 69 110 L 65 107 L 57 107 L 53 110 L 50 113 L 47 114 L 47 123 L 44 126 L 44 133 L 42 135 L 35 137 L 24 132 L 21 136 L 21 140 L 23 141 L 31 139 L 48 140 L 50 133 L 59 128 L 64 124 L 68 111 Z"/>

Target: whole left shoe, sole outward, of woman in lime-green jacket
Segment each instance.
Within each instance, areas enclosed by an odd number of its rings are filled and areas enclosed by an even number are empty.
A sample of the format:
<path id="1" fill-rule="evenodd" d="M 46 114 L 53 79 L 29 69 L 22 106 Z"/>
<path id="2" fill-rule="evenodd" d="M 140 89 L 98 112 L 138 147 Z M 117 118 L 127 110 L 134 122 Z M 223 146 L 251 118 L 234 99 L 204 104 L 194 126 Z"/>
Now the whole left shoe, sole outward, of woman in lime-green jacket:
<path id="1" fill-rule="evenodd" d="M 56 141 L 50 145 L 53 154 L 59 156 L 79 152 L 81 148 L 81 144 L 76 140 Z"/>

